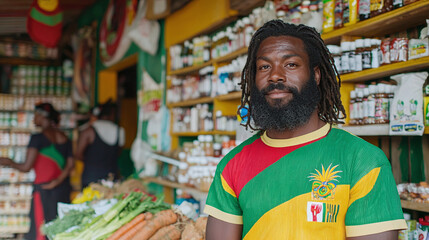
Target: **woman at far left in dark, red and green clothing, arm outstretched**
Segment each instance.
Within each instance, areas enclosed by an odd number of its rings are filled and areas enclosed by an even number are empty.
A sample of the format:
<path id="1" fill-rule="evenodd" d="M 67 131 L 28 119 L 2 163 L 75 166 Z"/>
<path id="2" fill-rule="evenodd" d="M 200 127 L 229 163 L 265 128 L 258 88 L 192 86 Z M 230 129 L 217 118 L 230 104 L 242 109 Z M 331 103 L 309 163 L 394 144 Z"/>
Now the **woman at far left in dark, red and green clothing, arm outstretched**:
<path id="1" fill-rule="evenodd" d="M 44 240 L 40 232 L 43 222 L 57 216 L 57 203 L 70 202 L 69 174 L 73 168 L 72 143 L 60 131 L 60 114 L 49 103 L 36 105 L 34 124 L 42 129 L 33 134 L 27 146 L 24 163 L 15 163 L 9 158 L 0 158 L 0 165 L 22 172 L 34 169 L 33 200 L 30 211 L 30 231 L 25 239 Z"/>

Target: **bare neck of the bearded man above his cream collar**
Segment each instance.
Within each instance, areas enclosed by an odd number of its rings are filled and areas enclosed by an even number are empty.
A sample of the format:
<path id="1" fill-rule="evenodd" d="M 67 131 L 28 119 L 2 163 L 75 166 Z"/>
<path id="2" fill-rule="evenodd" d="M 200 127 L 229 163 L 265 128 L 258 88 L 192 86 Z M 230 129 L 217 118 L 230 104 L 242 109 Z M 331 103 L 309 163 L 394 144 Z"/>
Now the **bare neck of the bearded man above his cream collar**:
<path id="1" fill-rule="evenodd" d="M 319 119 L 317 111 L 314 111 L 313 114 L 311 114 L 308 122 L 303 126 L 297 127 L 293 130 L 267 130 L 266 132 L 267 136 L 272 139 L 288 139 L 314 132 L 317 129 L 325 126 L 325 124 L 325 122 Z"/>

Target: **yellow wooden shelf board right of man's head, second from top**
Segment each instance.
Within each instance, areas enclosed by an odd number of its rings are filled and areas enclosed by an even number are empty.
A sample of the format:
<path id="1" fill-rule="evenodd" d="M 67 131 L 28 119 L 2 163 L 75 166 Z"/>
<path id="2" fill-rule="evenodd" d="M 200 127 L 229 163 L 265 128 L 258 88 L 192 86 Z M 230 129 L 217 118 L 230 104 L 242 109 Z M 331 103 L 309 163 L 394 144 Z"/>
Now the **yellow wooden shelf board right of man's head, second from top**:
<path id="1" fill-rule="evenodd" d="M 348 73 L 341 75 L 342 82 L 361 82 L 376 78 L 387 77 L 399 73 L 418 71 L 429 68 L 429 57 L 422 57 L 408 60 L 406 62 L 392 63 L 383 65 L 379 68 L 372 68 L 360 72 Z"/>

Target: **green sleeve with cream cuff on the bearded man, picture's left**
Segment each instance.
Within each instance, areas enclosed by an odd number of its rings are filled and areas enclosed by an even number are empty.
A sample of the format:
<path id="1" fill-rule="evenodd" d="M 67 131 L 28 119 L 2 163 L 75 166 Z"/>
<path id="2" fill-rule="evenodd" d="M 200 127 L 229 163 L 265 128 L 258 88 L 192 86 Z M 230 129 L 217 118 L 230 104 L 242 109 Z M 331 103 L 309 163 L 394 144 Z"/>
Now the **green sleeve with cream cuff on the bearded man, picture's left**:
<path id="1" fill-rule="evenodd" d="M 243 224 L 243 213 L 237 196 L 231 188 L 231 183 L 228 183 L 222 176 L 220 166 L 216 169 L 213 183 L 210 186 L 204 212 L 228 223 Z"/>

